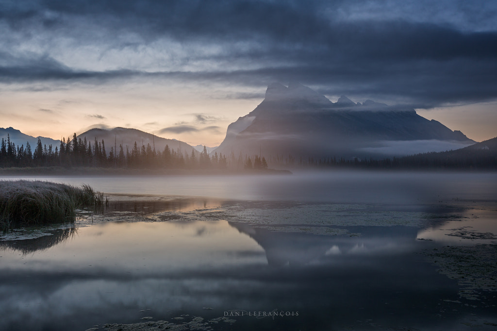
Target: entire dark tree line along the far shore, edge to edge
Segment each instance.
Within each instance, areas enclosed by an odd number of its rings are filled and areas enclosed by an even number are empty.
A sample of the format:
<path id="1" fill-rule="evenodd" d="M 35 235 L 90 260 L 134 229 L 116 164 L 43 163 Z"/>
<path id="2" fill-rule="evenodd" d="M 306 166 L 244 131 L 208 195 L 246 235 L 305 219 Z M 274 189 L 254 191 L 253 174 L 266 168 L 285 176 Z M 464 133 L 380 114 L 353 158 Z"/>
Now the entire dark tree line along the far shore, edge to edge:
<path id="1" fill-rule="evenodd" d="M 92 142 L 73 135 L 63 138 L 59 146 L 43 145 L 40 138 L 32 150 L 29 142 L 26 146 L 15 146 L 7 135 L 2 138 L 0 148 L 0 167 L 115 167 L 115 168 L 170 168 L 170 169 L 266 169 L 268 165 L 275 168 L 362 168 L 362 169 L 493 169 L 497 170 L 497 152 L 494 149 L 462 149 L 448 152 L 430 152 L 405 157 L 384 159 L 344 159 L 336 157 L 315 158 L 282 155 L 265 157 L 259 155 L 238 157 L 232 152 L 230 156 L 214 153 L 209 156 L 204 146 L 198 153 L 179 148 L 156 151 L 147 144 L 139 146 L 136 142 L 130 149 L 119 145 L 110 147 L 109 153 L 103 140 Z"/>

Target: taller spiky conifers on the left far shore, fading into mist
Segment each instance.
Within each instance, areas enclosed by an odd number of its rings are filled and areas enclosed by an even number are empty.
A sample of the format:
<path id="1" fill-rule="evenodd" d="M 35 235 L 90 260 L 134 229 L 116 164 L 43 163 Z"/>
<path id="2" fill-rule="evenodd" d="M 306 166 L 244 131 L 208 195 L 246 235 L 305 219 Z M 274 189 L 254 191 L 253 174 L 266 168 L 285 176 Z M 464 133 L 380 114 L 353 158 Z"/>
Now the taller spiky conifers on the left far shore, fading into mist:
<path id="1" fill-rule="evenodd" d="M 2 138 L 0 148 L 0 167 L 115 167 L 115 168 L 171 168 L 171 169 L 265 169 L 267 162 L 264 157 L 257 155 L 240 155 L 227 158 L 221 153 L 209 156 L 204 146 L 202 152 L 194 149 L 191 152 L 181 151 L 179 148 L 170 149 L 168 145 L 163 151 L 156 151 L 147 144 L 140 147 L 136 141 L 130 149 L 122 144 L 119 147 L 110 147 L 109 153 L 105 148 L 104 140 L 93 142 L 83 140 L 73 135 L 62 138 L 59 146 L 43 145 L 40 138 L 32 151 L 29 142 L 26 146 L 15 146 L 7 135 L 7 140 Z"/>

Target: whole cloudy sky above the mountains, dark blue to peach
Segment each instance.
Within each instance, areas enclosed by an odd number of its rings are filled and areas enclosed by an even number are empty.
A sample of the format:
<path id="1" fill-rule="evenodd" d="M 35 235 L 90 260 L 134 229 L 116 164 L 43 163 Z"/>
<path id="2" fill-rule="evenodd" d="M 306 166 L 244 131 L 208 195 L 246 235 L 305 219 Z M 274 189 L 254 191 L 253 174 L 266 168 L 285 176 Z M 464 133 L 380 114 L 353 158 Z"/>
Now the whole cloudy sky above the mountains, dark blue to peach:
<path id="1" fill-rule="evenodd" d="M 497 136 L 490 0 L 2 0 L 0 127 L 216 146 L 268 83 L 409 104 Z"/>

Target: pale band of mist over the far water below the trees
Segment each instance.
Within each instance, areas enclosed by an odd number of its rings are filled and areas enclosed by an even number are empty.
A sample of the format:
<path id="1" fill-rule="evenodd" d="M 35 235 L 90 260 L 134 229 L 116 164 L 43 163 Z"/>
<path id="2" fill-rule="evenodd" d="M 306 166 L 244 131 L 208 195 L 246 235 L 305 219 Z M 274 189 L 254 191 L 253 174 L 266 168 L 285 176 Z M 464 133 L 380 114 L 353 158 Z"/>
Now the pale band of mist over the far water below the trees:
<path id="1" fill-rule="evenodd" d="M 119 194 L 201 196 L 235 200 L 414 203 L 494 199 L 496 173 L 325 171 L 291 175 L 24 176 Z"/>

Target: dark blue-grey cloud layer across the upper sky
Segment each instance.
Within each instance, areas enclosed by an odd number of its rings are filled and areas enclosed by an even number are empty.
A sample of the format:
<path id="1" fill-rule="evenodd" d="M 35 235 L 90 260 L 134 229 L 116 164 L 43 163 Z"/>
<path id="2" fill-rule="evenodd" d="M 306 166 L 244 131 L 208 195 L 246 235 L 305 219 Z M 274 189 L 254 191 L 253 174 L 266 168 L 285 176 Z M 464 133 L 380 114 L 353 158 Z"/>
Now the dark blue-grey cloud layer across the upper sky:
<path id="1" fill-rule="evenodd" d="M 371 3 L 376 5 L 371 14 L 361 9 Z M 45 53 L 19 57 L 4 50 L 0 81 L 99 83 L 145 77 L 240 86 L 228 98 L 255 97 L 243 86 L 299 81 L 327 94 L 402 100 L 421 107 L 496 98 L 497 30 L 488 13 L 495 13 L 497 5 L 442 1 L 437 5 L 445 6 L 447 14 L 440 16 L 440 10 L 426 9 L 429 5 L 406 3 L 407 9 L 395 1 L 12 2 L 0 11 L 0 21 L 12 31 L 89 27 L 88 33 L 77 28 L 67 33 L 83 44 L 97 43 L 97 49 L 118 50 L 169 38 L 196 50 L 180 63 L 211 61 L 231 67 L 151 71 L 123 64 L 118 70 L 77 70 Z M 378 14 L 382 10 L 384 16 Z M 360 19 L 350 18 L 358 11 Z M 392 16 L 397 12 L 399 17 Z M 445 20 L 430 22 L 426 17 Z M 96 39 L 91 26 L 98 28 Z M 141 40 L 116 38 L 126 33 Z M 211 55 L 205 51 L 210 47 L 221 51 Z"/>

